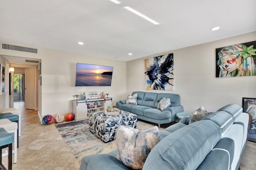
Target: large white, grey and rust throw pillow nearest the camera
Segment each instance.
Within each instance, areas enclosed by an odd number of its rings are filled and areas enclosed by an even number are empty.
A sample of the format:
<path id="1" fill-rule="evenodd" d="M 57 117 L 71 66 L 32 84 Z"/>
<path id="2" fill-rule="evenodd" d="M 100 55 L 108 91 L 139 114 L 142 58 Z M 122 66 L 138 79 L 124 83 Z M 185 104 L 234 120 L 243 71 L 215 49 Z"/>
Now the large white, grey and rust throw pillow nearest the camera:
<path id="1" fill-rule="evenodd" d="M 132 169 L 141 170 L 149 152 L 159 141 L 160 134 L 156 126 L 139 131 L 120 125 L 116 130 L 116 158 Z"/>

